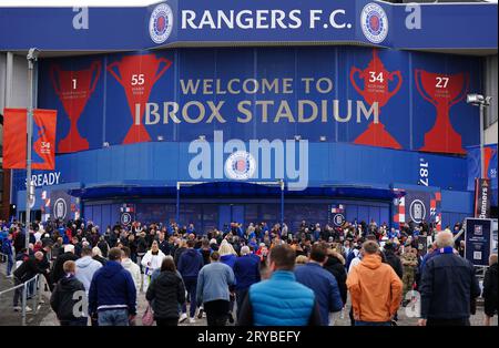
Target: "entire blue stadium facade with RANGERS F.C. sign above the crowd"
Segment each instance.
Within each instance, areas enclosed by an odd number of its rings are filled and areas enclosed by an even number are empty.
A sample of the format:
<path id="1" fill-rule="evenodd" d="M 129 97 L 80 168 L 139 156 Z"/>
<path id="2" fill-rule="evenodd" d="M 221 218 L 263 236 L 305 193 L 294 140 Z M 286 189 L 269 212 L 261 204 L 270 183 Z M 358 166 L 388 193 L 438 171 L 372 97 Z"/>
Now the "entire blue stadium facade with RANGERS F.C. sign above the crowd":
<path id="1" fill-rule="evenodd" d="M 198 231 L 333 224 L 339 205 L 347 221 L 389 225 L 471 216 L 480 137 L 466 94 L 497 54 L 497 4 L 421 6 L 419 29 L 407 9 L 166 1 L 90 9 L 84 35 L 53 34 L 71 9 L 2 11 L 0 32 L 20 34 L 1 47 L 41 50 L 38 106 L 58 110 L 55 170 L 33 173 L 33 209 Z M 47 25 L 30 37 L 21 16 Z M 24 181 L 13 172 L 18 214 Z"/>

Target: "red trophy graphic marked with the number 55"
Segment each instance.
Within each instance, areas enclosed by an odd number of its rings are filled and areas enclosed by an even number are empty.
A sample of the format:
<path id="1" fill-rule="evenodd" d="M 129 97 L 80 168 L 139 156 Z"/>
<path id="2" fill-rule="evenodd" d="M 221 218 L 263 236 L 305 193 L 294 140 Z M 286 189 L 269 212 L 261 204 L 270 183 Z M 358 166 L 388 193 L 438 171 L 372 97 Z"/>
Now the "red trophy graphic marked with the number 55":
<path id="1" fill-rule="evenodd" d="M 159 71 L 161 63 L 164 65 Z M 149 101 L 153 85 L 171 65 L 171 61 L 165 58 L 156 58 L 153 53 L 145 55 L 128 55 L 121 61 L 108 65 L 108 71 L 111 72 L 114 79 L 116 79 L 125 90 L 126 100 L 132 114 L 132 126 L 126 133 L 123 144 L 151 141 L 151 136 L 142 122 L 144 106 Z M 115 68 L 118 68 L 118 71 L 114 70 Z M 135 114 L 136 104 L 140 105 L 139 115 Z"/>

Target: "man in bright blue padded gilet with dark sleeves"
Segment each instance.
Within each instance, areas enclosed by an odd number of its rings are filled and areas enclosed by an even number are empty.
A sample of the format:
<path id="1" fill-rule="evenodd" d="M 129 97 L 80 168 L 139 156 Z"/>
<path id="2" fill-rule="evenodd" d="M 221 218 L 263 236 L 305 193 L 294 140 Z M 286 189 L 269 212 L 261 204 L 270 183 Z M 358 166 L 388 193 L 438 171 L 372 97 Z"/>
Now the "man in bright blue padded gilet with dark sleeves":
<path id="1" fill-rule="evenodd" d="M 296 282 L 293 273 L 295 257 L 295 250 L 287 244 L 272 248 L 268 259 L 272 276 L 249 287 L 237 325 L 320 325 L 314 291 Z"/>

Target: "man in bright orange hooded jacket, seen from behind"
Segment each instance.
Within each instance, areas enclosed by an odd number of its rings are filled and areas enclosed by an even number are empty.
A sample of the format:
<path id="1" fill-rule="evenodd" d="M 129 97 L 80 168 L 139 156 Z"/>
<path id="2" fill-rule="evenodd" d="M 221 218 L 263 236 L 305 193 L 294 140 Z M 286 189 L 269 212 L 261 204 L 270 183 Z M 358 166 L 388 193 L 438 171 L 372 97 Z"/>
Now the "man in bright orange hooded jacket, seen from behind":
<path id="1" fill-rule="evenodd" d="M 348 274 L 347 287 L 356 326 L 390 326 L 401 301 L 403 283 L 395 270 L 381 263 L 379 245 L 363 245 L 360 264 Z"/>

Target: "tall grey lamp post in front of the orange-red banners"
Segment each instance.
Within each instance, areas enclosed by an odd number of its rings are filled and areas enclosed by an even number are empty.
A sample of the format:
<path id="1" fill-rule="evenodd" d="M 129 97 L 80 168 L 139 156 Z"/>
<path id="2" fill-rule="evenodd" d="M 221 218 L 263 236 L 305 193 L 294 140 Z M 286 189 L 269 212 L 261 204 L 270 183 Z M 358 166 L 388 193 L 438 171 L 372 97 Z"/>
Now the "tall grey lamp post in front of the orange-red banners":
<path id="1" fill-rule="evenodd" d="M 34 99 L 37 90 L 37 81 L 34 80 L 35 62 L 38 60 L 38 54 L 40 51 L 38 49 L 30 49 L 28 51 L 28 84 L 29 84 L 29 104 L 28 104 L 28 122 L 27 122 L 27 133 L 28 133 L 28 144 L 27 144 L 27 160 L 26 160 L 26 248 L 29 252 L 30 245 L 30 219 L 31 219 L 31 201 L 34 195 L 32 182 L 31 182 L 31 147 L 33 140 L 33 109 Z"/>

